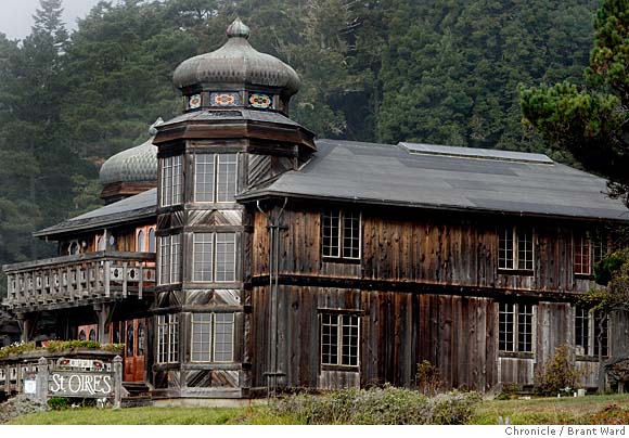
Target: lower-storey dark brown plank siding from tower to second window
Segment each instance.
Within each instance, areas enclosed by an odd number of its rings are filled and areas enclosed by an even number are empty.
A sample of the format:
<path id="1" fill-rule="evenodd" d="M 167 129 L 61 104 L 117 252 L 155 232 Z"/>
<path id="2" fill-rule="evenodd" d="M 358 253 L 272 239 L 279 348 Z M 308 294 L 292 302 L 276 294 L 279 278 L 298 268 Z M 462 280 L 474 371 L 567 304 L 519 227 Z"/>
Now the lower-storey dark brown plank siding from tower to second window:
<path id="1" fill-rule="evenodd" d="M 269 364 L 268 286 L 253 291 L 253 387 L 266 386 Z M 359 311 L 360 365 L 356 372 L 320 364 L 319 312 Z M 278 370 L 282 386 L 334 388 L 383 384 L 412 387 L 418 363 L 439 368 L 447 386 L 489 389 L 497 383 L 498 326 L 492 300 L 333 287 L 280 286 Z"/>

